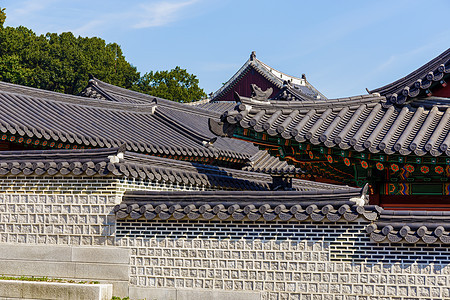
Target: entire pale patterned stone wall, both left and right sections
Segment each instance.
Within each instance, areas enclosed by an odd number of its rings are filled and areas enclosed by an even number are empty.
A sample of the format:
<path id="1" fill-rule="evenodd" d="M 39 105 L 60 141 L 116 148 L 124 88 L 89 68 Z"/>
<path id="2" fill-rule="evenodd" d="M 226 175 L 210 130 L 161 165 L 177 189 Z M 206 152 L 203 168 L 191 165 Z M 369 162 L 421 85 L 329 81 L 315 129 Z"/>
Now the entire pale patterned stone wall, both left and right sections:
<path id="1" fill-rule="evenodd" d="M 368 221 L 364 219 L 351 223 L 116 221 L 112 214 L 127 190 L 189 189 L 201 188 L 112 177 L 2 178 L 0 251 L 16 251 L 16 256 L 0 255 L 0 270 L 5 275 L 45 273 L 83 279 L 100 270 L 98 266 L 115 264 L 118 258 L 102 251 L 117 248 L 128 251 L 122 255 L 122 264 L 115 266 L 122 272 L 117 271 L 120 279 L 105 278 L 116 282 L 117 296 L 129 292 L 139 299 L 189 299 L 192 295 L 209 299 L 450 299 L 447 246 L 376 244 L 365 232 Z M 21 247 L 31 248 L 20 252 Z M 20 257 L 23 251 L 28 256 Z M 100 251 L 97 254 L 105 260 L 77 261 L 74 253 L 82 251 Z M 70 266 L 67 272 L 74 272 L 69 276 L 37 268 L 39 272 L 33 273 L 32 266 L 40 264 L 58 265 L 60 269 L 55 270 L 61 272 Z M 81 266 L 85 272 L 76 272 L 83 270 Z"/>

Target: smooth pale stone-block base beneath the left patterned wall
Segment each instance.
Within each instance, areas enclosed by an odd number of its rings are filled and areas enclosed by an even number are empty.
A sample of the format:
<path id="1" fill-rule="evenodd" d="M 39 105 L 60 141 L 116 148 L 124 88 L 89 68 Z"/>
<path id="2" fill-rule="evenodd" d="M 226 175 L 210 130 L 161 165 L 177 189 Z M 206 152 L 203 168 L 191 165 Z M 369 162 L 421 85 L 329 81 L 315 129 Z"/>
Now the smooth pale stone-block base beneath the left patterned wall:
<path id="1" fill-rule="evenodd" d="M 0 275 L 107 282 L 122 297 L 128 294 L 129 261 L 130 250 L 120 247 L 0 243 Z"/>

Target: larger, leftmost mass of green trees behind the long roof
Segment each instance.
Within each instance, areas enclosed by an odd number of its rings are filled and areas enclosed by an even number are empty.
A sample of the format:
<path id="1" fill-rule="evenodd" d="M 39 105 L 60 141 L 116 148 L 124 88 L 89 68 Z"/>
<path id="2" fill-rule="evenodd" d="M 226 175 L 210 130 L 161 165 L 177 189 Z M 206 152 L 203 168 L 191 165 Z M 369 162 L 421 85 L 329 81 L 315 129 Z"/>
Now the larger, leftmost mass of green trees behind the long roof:
<path id="1" fill-rule="evenodd" d="M 36 35 L 23 26 L 0 30 L 2 81 L 77 94 L 86 87 L 89 74 L 124 88 L 139 79 L 116 43 L 71 32 Z"/>

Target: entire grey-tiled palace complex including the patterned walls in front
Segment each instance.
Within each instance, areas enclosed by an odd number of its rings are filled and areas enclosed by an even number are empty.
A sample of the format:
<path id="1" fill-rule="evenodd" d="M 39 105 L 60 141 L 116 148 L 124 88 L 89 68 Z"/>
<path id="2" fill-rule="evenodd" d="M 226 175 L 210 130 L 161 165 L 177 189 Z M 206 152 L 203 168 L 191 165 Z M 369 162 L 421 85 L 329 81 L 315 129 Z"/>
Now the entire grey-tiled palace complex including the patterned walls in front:
<path id="1" fill-rule="evenodd" d="M 191 104 L 0 82 L 1 273 L 96 299 L 450 299 L 449 55 L 340 99 L 254 53 Z"/>

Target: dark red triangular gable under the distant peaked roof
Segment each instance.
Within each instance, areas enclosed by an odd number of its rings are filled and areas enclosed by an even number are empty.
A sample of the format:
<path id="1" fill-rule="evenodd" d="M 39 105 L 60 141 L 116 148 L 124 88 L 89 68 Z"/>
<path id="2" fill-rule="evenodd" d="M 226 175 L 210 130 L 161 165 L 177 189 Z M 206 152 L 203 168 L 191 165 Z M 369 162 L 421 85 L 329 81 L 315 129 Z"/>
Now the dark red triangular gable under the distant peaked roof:
<path id="1" fill-rule="evenodd" d="M 252 95 L 251 84 L 254 83 L 259 86 L 263 91 L 268 88 L 273 89 L 273 93 L 270 97 L 274 97 L 280 91 L 273 83 L 264 78 L 255 69 L 250 70 L 225 94 L 215 99 L 216 101 L 234 101 L 234 92 L 244 97 L 250 97 Z"/>

